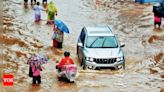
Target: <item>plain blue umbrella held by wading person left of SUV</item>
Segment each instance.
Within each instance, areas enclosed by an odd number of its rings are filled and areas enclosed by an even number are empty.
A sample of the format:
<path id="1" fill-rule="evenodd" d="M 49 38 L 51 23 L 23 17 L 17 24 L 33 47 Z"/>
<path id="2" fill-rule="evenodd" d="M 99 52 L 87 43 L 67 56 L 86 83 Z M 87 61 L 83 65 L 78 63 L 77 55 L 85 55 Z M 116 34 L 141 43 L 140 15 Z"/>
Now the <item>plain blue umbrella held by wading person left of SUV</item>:
<path id="1" fill-rule="evenodd" d="M 58 28 L 60 31 L 69 33 L 69 29 L 68 29 L 67 25 L 64 24 L 63 21 L 61 21 L 61 20 L 55 20 L 54 25 L 56 25 L 57 28 Z"/>

